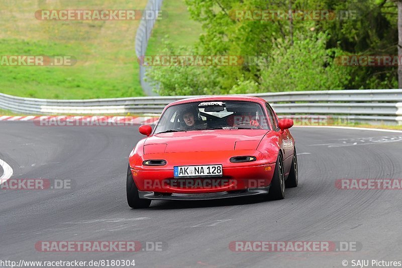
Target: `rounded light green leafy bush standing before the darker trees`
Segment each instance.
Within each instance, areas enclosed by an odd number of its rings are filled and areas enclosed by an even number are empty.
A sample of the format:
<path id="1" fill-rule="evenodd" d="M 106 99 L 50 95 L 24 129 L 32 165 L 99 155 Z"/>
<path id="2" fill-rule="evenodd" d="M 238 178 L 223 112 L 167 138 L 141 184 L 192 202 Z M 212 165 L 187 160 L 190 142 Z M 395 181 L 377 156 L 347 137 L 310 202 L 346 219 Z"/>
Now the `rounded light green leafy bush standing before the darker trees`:
<path id="1" fill-rule="evenodd" d="M 293 38 L 275 41 L 269 64 L 261 72 L 259 91 L 343 89 L 350 69 L 335 63 L 342 51 L 326 48 L 328 34 L 310 31 Z"/>

